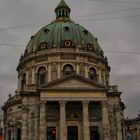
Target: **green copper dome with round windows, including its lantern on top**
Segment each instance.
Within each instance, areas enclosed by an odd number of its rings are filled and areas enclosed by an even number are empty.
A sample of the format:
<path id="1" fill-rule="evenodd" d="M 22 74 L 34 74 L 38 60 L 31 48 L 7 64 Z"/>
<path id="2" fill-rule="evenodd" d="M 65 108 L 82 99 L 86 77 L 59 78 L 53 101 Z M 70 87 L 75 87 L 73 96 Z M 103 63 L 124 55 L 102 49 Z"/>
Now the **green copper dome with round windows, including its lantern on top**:
<path id="1" fill-rule="evenodd" d="M 55 47 L 76 47 L 103 54 L 97 39 L 70 18 L 70 8 L 61 0 L 55 9 L 56 20 L 31 37 L 25 54 Z"/>

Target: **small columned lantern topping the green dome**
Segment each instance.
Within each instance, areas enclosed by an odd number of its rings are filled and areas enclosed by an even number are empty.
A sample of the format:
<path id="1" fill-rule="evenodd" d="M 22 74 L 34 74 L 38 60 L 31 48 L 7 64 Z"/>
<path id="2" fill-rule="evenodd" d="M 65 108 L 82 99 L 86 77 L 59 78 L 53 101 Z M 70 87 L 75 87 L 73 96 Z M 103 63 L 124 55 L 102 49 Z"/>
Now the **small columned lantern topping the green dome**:
<path id="1" fill-rule="evenodd" d="M 58 18 L 69 18 L 70 17 L 71 9 L 65 3 L 64 0 L 61 0 L 60 3 L 55 8 L 56 19 Z"/>

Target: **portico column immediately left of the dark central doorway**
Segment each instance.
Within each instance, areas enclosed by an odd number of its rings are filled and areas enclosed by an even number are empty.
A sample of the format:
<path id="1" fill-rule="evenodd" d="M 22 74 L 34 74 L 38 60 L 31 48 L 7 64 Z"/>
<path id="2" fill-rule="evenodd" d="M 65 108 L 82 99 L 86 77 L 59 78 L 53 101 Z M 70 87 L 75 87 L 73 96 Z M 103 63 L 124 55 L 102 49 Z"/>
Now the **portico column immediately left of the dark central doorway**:
<path id="1" fill-rule="evenodd" d="M 66 101 L 60 101 L 60 140 L 66 140 Z"/>

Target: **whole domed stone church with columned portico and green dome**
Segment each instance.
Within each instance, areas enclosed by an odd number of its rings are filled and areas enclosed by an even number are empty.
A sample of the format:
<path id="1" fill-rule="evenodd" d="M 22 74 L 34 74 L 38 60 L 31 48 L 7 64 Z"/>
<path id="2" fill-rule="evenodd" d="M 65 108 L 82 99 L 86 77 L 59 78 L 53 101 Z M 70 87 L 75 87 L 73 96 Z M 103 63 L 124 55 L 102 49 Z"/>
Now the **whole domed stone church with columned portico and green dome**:
<path id="1" fill-rule="evenodd" d="M 121 94 L 98 39 L 70 18 L 31 36 L 17 66 L 18 88 L 3 105 L 4 140 L 125 140 Z"/>

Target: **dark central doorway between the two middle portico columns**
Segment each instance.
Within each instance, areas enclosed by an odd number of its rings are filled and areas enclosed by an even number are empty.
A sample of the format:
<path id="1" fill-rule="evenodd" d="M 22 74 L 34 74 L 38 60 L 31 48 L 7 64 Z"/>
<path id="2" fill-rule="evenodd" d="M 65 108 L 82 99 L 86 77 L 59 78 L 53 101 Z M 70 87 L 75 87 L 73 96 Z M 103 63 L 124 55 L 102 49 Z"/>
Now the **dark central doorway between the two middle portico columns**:
<path id="1" fill-rule="evenodd" d="M 78 126 L 68 126 L 68 140 L 78 140 Z"/>

